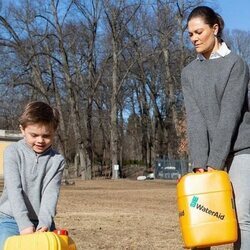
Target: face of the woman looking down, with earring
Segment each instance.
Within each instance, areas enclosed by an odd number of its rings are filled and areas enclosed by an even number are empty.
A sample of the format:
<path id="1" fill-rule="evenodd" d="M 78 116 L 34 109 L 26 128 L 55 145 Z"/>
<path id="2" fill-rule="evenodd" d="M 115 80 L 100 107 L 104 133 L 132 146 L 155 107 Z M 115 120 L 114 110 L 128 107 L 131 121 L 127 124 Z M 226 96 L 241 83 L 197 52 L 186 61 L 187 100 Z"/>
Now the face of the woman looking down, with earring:
<path id="1" fill-rule="evenodd" d="M 188 22 L 188 33 L 197 53 L 209 58 L 213 51 L 218 50 L 218 24 L 210 27 L 201 17 L 194 17 Z"/>

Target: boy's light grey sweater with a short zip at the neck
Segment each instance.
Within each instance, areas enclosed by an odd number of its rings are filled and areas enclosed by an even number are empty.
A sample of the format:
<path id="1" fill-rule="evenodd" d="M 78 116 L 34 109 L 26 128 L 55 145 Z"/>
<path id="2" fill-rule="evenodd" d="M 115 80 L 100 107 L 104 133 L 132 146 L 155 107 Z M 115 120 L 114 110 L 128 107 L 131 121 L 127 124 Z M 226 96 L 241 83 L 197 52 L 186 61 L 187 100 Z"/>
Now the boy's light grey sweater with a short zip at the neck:
<path id="1" fill-rule="evenodd" d="M 0 212 L 13 216 L 19 230 L 33 226 L 50 228 L 56 212 L 64 159 L 52 148 L 37 155 L 24 139 L 4 153 L 4 190 Z"/>

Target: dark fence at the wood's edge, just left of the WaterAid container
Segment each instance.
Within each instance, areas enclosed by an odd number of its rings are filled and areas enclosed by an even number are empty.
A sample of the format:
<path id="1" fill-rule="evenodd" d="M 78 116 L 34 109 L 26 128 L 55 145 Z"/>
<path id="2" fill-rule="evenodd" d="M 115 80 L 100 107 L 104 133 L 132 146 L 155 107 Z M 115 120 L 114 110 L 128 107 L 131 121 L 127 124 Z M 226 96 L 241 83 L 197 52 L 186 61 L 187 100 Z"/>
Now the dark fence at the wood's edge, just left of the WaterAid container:
<path id="1" fill-rule="evenodd" d="M 157 159 L 155 161 L 155 178 L 176 180 L 189 172 L 187 160 Z"/>

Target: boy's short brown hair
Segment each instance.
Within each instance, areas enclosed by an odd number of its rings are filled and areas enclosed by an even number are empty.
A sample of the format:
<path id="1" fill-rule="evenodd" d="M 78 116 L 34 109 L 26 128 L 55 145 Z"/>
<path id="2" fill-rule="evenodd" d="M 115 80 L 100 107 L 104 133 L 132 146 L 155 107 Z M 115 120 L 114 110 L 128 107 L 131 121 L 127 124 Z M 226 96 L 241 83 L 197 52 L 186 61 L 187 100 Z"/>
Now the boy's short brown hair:
<path id="1" fill-rule="evenodd" d="M 19 123 L 23 129 L 30 124 L 42 123 L 50 125 L 56 130 L 59 124 L 59 112 L 45 102 L 30 102 L 25 106 Z"/>

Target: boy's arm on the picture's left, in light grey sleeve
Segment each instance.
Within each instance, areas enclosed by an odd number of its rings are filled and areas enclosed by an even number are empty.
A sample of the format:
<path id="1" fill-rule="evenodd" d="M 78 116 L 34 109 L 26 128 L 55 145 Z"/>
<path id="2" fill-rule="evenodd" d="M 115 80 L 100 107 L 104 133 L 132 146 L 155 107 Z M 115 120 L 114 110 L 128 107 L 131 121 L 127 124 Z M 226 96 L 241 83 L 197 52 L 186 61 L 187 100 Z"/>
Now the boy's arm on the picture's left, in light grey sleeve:
<path id="1" fill-rule="evenodd" d="M 20 232 L 33 227 L 28 217 L 28 210 L 23 198 L 18 155 L 13 147 L 6 148 L 4 152 L 4 184 L 7 190 L 12 214 L 17 222 Z"/>

